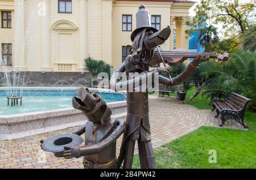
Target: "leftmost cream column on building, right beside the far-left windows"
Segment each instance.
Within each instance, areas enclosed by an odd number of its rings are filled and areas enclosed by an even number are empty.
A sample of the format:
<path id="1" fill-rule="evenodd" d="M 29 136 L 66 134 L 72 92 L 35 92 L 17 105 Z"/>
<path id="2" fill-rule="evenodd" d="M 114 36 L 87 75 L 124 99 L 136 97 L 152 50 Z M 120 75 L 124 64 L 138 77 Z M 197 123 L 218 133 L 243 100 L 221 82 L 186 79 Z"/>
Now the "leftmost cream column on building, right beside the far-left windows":
<path id="1" fill-rule="evenodd" d="M 14 0 L 14 70 L 24 71 L 25 65 L 25 30 L 24 0 Z"/>

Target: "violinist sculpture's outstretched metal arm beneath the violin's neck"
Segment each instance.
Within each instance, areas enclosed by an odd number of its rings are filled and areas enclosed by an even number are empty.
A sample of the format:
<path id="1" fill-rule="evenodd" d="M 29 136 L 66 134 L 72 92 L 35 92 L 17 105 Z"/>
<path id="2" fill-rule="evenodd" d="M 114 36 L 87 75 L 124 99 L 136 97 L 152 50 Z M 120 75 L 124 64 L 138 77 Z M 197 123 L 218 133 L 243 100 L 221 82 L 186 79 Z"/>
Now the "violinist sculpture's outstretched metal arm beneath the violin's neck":
<path id="1" fill-rule="evenodd" d="M 180 75 L 176 76 L 175 78 L 172 78 L 172 81 L 169 78 L 159 75 L 159 83 L 168 86 L 180 84 L 184 82 L 189 76 L 191 76 L 193 72 L 195 72 L 196 68 L 199 66 L 201 62 L 207 61 L 208 59 L 208 57 L 201 58 L 200 56 L 193 59 L 193 61 L 189 62 L 188 66 Z"/>

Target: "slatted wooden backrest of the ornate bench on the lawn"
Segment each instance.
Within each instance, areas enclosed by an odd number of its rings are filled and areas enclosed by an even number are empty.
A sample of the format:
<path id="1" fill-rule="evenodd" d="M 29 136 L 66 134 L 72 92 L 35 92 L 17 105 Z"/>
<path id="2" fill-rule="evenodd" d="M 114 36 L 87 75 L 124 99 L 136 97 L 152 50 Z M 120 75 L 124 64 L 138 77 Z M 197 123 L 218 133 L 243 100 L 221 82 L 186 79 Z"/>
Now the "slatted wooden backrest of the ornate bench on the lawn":
<path id="1" fill-rule="evenodd" d="M 244 109 L 246 104 L 251 100 L 245 96 L 238 95 L 237 93 L 230 93 L 229 97 L 226 98 L 226 101 L 232 105 L 237 110 Z"/>

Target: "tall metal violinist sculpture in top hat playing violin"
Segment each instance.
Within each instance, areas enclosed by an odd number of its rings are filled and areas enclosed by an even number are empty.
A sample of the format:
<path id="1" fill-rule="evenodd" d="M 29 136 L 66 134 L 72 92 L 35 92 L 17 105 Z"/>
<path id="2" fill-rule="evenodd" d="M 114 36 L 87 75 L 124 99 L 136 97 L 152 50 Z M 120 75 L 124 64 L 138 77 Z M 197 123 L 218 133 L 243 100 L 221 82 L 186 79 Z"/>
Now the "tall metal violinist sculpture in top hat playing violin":
<path id="1" fill-rule="evenodd" d="M 136 15 L 137 29 L 131 34 L 133 41 L 130 55 L 128 55 L 117 70 L 115 70 L 110 86 L 115 91 L 127 90 L 127 130 L 123 135 L 121 151 L 117 166 L 123 162 L 123 168 L 129 169 L 133 165 L 135 141 L 138 141 L 139 160 L 141 168 L 154 169 L 155 158 L 151 144 L 150 123 L 148 119 L 148 89 L 146 79 L 153 77 L 154 74 L 166 72 L 169 78 L 159 75 L 159 83 L 172 86 L 180 84 L 193 74 L 201 62 L 209 58 L 228 61 L 229 54 L 218 53 L 188 53 L 161 51 L 159 45 L 162 45 L 170 36 L 171 29 L 166 27 L 161 31 L 151 27 L 150 13 L 144 5 L 139 6 Z M 179 76 L 171 78 L 171 67 L 183 63 L 188 58 L 194 58 L 189 62 L 184 72 Z M 150 70 L 150 67 L 163 63 L 164 67 Z M 123 75 L 127 80 L 119 81 Z M 137 74 L 131 77 L 131 74 Z M 132 87 L 132 91 L 130 89 Z"/>

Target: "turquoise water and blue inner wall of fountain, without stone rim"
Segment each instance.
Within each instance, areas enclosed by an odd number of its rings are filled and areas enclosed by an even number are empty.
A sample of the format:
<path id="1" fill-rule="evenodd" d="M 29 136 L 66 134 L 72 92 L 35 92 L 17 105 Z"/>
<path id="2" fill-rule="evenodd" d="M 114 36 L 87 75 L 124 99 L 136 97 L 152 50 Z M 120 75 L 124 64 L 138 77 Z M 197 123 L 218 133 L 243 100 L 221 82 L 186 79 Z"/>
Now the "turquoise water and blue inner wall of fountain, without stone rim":
<path id="1" fill-rule="evenodd" d="M 78 88 L 23 88 L 22 105 L 8 106 L 5 88 L 0 89 L 0 115 L 14 115 L 32 112 L 44 112 L 46 110 L 72 108 L 72 97 L 76 96 Z M 124 101 L 126 97 L 123 93 L 98 91 L 106 102 Z"/>

